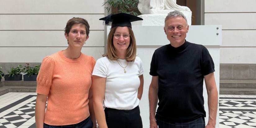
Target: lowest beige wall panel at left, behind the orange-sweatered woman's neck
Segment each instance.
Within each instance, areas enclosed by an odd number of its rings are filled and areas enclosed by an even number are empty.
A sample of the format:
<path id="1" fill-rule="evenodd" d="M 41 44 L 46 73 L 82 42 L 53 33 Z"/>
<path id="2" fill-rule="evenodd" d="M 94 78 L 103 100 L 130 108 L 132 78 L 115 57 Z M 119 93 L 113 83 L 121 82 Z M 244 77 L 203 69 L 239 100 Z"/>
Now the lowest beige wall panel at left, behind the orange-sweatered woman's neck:
<path id="1" fill-rule="evenodd" d="M 41 63 L 43 57 L 66 49 L 65 47 L 0 47 L 0 63 Z M 83 47 L 82 52 L 101 58 L 104 47 Z"/>

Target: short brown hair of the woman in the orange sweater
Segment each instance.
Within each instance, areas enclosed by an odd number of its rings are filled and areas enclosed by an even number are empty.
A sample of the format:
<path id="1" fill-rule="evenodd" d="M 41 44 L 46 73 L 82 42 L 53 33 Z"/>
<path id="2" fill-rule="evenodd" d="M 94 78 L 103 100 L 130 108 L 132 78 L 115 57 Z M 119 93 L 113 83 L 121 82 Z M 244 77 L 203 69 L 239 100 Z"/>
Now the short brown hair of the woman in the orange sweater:
<path id="1" fill-rule="evenodd" d="M 67 22 L 67 25 L 65 27 L 65 33 L 69 34 L 70 29 L 72 28 L 72 26 L 74 24 L 83 24 L 85 26 L 85 30 L 86 30 L 86 35 L 89 35 L 89 31 L 90 31 L 90 25 L 87 22 L 87 20 L 83 19 L 83 18 L 79 18 L 79 17 L 73 17 L 72 19 L 70 19 Z"/>

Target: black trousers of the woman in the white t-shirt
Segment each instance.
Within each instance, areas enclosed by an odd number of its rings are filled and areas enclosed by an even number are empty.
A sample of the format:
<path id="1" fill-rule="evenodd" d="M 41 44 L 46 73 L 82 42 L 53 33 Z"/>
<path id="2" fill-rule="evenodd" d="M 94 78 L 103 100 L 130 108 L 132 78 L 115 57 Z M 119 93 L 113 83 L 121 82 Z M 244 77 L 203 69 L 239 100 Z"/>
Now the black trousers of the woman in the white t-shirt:
<path id="1" fill-rule="evenodd" d="M 142 128 L 139 106 L 132 110 L 105 108 L 104 111 L 108 128 Z"/>

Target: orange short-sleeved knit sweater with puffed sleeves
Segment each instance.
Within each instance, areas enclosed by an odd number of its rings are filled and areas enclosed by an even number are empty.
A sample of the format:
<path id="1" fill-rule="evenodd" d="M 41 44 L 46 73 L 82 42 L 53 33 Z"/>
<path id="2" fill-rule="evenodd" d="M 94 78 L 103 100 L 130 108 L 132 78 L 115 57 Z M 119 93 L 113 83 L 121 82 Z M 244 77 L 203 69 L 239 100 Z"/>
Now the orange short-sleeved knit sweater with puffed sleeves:
<path id="1" fill-rule="evenodd" d="M 81 53 L 75 60 L 59 51 L 43 59 L 38 77 L 39 94 L 48 94 L 44 123 L 76 124 L 89 117 L 88 92 L 95 60 Z"/>

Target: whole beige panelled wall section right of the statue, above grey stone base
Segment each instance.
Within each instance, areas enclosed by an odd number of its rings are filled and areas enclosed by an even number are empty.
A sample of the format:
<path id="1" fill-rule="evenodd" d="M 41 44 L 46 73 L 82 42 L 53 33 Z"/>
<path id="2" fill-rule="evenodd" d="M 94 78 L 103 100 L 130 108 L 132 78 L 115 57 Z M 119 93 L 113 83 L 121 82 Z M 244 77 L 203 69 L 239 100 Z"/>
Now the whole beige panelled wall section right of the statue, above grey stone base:
<path id="1" fill-rule="evenodd" d="M 204 0 L 205 25 L 222 25 L 221 64 L 256 64 L 256 1 Z"/>

